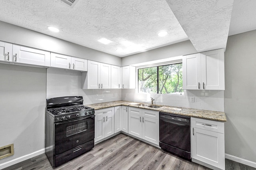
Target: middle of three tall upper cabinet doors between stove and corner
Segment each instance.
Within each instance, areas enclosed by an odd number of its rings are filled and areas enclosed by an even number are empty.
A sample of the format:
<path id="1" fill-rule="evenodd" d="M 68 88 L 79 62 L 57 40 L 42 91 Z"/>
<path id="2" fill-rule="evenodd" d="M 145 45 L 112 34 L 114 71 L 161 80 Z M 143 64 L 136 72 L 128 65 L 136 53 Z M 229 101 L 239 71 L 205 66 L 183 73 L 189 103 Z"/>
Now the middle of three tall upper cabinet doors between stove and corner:
<path id="1" fill-rule="evenodd" d="M 111 89 L 111 65 L 100 63 L 100 88 Z"/>

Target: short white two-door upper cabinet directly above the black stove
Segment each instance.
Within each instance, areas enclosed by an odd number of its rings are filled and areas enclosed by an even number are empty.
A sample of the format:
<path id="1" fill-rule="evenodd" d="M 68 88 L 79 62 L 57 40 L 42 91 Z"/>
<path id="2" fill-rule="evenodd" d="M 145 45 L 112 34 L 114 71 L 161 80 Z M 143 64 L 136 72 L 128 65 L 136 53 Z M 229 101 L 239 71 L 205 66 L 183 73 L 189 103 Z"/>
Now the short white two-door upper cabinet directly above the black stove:
<path id="1" fill-rule="evenodd" d="M 51 67 L 87 71 L 87 60 L 68 55 L 51 53 Z"/>

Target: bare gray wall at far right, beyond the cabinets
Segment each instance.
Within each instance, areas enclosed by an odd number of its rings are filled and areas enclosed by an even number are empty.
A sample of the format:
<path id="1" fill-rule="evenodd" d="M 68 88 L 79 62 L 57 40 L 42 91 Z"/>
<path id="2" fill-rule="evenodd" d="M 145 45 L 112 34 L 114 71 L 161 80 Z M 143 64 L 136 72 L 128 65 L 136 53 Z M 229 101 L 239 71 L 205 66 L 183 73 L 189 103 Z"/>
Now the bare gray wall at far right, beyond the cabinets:
<path id="1" fill-rule="evenodd" d="M 256 162 L 256 30 L 228 37 L 225 153 Z"/>

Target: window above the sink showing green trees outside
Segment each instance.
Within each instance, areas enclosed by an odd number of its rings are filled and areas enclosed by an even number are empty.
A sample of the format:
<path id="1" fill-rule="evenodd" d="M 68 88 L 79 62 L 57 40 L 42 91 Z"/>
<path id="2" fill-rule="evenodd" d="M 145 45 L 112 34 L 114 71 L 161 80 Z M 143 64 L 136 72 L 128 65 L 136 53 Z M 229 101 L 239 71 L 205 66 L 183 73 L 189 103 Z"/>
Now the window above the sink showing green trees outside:
<path id="1" fill-rule="evenodd" d="M 138 92 L 183 95 L 182 63 L 138 69 Z"/>

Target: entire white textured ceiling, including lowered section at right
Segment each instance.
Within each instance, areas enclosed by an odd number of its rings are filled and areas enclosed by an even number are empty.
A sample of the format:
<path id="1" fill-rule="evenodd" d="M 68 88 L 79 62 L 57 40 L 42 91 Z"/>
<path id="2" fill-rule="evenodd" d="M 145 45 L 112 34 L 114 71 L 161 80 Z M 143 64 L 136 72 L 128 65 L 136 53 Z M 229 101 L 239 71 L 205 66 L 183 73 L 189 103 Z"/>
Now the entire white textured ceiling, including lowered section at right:
<path id="1" fill-rule="evenodd" d="M 232 34 L 256 29 L 255 12 L 245 11 L 254 10 L 255 2 L 234 0 L 235 19 L 231 18 L 230 25 L 239 29 L 230 28 Z M 233 0 L 79 0 L 71 8 L 60 0 L 2 0 L 0 20 L 124 57 L 185 40 L 190 40 L 198 51 L 226 47 L 232 3 Z M 242 20 L 251 14 L 254 20 Z M 240 21 L 247 25 L 239 25 Z M 57 27 L 60 32 L 50 32 L 47 26 Z M 159 37 L 161 30 L 168 31 L 168 35 Z M 98 42 L 101 38 L 112 42 L 102 44 Z"/>

